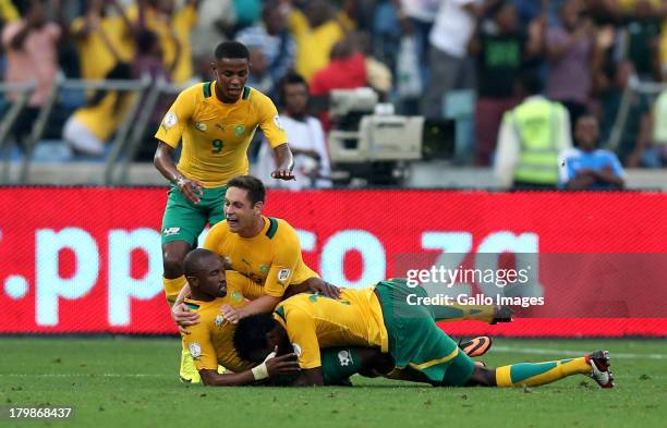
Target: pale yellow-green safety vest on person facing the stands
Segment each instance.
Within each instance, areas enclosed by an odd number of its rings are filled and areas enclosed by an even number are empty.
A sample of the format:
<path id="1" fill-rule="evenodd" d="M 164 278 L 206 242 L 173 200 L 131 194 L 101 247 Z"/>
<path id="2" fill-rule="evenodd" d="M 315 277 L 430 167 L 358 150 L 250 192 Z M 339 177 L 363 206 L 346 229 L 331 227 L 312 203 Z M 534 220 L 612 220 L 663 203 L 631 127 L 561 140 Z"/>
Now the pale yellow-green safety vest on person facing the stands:
<path id="1" fill-rule="evenodd" d="M 558 184 L 558 154 L 565 108 L 546 99 L 523 102 L 507 113 L 521 143 L 514 181 Z"/>

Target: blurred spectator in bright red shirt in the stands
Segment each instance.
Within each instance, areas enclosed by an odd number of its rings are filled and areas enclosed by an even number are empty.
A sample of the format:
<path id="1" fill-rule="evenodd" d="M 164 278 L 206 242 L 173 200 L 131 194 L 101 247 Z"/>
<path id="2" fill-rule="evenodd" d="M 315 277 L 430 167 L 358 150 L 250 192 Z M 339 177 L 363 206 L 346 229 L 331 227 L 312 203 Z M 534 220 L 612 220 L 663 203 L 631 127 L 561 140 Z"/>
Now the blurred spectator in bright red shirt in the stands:
<path id="1" fill-rule="evenodd" d="M 312 78 L 311 93 L 327 95 L 332 89 L 366 86 L 366 60 L 354 37 L 347 37 L 331 49 L 331 62 Z"/>

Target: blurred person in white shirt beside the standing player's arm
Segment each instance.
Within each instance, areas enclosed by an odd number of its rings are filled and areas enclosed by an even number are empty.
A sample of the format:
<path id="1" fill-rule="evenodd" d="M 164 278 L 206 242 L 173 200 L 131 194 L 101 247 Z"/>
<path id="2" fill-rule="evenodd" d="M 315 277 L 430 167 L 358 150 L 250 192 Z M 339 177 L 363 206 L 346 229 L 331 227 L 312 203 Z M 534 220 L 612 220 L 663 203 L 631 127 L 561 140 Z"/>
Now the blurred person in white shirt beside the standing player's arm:
<path id="1" fill-rule="evenodd" d="M 272 184 L 280 187 L 301 189 L 306 187 L 331 187 L 331 164 L 319 121 L 306 113 L 308 85 L 295 73 L 287 74 L 279 82 L 279 99 L 282 111 L 280 122 L 290 139 L 294 155 L 295 181 Z M 268 178 L 275 170 L 275 159 L 268 144 L 263 144 L 257 159 L 257 175 Z"/>

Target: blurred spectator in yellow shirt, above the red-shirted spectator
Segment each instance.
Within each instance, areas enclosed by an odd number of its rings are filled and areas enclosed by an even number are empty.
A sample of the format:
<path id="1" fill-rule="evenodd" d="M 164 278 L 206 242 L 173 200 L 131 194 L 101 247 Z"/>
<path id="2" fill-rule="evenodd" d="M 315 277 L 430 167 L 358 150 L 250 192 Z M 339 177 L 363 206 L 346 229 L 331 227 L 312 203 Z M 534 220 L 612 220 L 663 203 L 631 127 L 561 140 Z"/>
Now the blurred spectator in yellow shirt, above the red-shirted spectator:
<path id="1" fill-rule="evenodd" d="M 331 48 L 344 36 L 343 28 L 331 17 L 325 0 L 311 0 L 305 14 L 292 9 L 289 27 L 296 42 L 296 72 L 310 82 L 329 63 Z"/>

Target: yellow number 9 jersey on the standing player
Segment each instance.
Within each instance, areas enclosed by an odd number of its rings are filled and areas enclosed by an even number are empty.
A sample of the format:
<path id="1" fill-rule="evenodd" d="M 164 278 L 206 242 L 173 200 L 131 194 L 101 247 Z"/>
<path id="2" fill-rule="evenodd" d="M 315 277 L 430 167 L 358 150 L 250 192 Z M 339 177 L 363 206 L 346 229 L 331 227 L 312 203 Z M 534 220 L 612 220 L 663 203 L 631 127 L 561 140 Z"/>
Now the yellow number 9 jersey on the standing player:
<path id="1" fill-rule="evenodd" d="M 207 82 L 183 90 L 173 102 L 155 137 L 171 147 L 183 139 L 179 171 L 205 187 L 218 187 L 247 174 L 247 147 L 257 126 L 271 147 L 288 142 L 274 102 L 245 87 L 232 103 L 220 101 L 217 85 Z"/>

